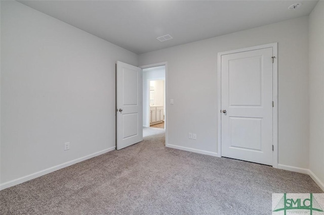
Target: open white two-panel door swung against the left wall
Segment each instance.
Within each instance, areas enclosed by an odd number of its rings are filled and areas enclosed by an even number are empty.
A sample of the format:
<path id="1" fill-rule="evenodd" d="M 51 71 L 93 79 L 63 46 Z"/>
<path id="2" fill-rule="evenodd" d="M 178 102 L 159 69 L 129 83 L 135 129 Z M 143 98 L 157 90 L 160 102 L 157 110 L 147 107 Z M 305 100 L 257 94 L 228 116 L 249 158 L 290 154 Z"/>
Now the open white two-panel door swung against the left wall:
<path id="1" fill-rule="evenodd" d="M 142 69 L 117 61 L 117 150 L 143 140 Z"/>

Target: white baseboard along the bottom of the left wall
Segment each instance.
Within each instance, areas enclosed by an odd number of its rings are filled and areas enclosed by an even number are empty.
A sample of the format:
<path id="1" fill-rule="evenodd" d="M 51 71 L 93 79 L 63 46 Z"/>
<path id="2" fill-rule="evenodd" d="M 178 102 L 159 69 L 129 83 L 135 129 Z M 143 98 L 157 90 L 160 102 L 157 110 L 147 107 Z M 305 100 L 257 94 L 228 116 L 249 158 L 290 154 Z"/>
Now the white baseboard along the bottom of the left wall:
<path id="1" fill-rule="evenodd" d="M 21 184 L 21 183 L 24 183 L 26 181 L 29 181 L 31 179 L 35 179 L 37 177 L 41 177 L 41 176 L 44 176 L 46 174 L 49 174 L 49 173 L 52 173 L 54 171 L 57 171 L 57 170 L 60 170 L 60 169 L 63 169 L 65 167 L 68 167 L 68 166 L 71 166 L 73 164 L 76 164 L 76 163 L 79 163 L 79 162 L 83 162 L 84 160 L 87 160 L 87 159 L 90 159 L 92 157 L 95 157 L 95 156 L 98 156 L 100 154 L 103 154 L 103 153 L 106 153 L 108 151 L 112 151 L 115 149 L 115 146 L 113 147 L 110 147 L 110 148 L 107 148 L 107 149 L 104 149 L 104 150 L 101 150 L 101 151 L 97 151 L 95 153 L 92 153 L 92 154 L 89 154 L 89 155 L 86 155 L 84 157 L 80 157 L 80 158 L 76 158 L 74 160 L 70 160 L 69 162 L 65 162 L 63 164 L 60 164 L 60 165 L 57 165 L 57 166 L 54 166 L 54 167 L 50 167 L 48 169 L 45 169 L 45 170 L 41 170 L 39 172 L 36 172 L 36 173 L 32 173 L 30 175 L 27 175 L 27 176 L 24 176 L 24 177 L 21 177 L 21 178 L 18 178 L 18 179 L 14 179 L 14 180 L 11 180 L 11 181 L 8 181 L 8 182 L 5 182 L 5 183 L 2 183 L 0 184 L 0 190 L 3 190 L 3 189 L 6 189 L 8 187 L 12 187 L 12 186 L 15 186 L 17 184 Z"/>

